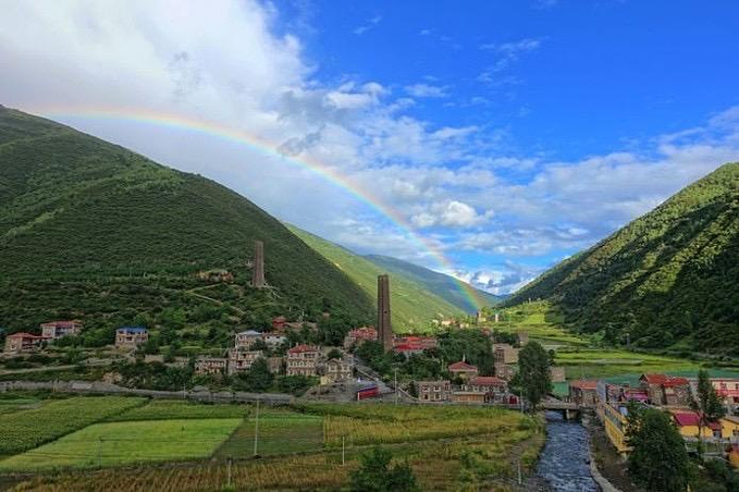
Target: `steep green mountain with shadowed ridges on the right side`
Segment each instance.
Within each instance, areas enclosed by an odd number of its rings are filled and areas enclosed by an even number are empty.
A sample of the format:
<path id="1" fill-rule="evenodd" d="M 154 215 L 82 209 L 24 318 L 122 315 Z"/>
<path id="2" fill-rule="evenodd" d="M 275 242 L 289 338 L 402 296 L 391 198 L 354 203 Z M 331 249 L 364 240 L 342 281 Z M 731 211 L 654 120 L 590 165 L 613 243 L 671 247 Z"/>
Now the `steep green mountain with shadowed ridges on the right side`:
<path id="1" fill-rule="evenodd" d="M 545 298 L 615 343 L 739 355 L 739 163 L 686 187 L 506 305 Z"/>

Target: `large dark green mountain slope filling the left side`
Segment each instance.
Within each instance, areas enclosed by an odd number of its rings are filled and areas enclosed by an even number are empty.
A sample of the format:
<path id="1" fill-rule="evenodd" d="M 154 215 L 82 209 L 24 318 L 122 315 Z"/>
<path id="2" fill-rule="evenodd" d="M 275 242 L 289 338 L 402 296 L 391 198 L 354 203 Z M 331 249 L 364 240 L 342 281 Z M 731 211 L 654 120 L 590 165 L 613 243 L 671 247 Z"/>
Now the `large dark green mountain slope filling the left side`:
<path id="1" fill-rule="evenodd" d="M 254 241 L 268 288 L 249 286 Z M 232 283 L 199 280 L 229 270 Z M 146 323 L 217 345 L 272 316 L 373 318 L 370 296 L 246 198 L 67 126 L 0 107 L 0 325 Z M 350 320 L 350 321 L 349 321 Z"/>

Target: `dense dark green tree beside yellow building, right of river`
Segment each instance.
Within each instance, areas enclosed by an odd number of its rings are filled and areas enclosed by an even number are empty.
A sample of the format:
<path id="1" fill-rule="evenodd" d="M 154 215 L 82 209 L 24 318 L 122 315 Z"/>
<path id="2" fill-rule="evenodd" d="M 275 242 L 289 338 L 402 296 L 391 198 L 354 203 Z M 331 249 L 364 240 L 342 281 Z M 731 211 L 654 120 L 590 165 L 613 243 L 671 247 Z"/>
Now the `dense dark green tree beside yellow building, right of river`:
<path id="1" fill-rule="evenodd" d="M 629 473 L 648 490 L 683 492 L 688 484 L 688 453 L 669 416 L 661 410 L 629 406 L 626 431 L 631 446 Z"/>

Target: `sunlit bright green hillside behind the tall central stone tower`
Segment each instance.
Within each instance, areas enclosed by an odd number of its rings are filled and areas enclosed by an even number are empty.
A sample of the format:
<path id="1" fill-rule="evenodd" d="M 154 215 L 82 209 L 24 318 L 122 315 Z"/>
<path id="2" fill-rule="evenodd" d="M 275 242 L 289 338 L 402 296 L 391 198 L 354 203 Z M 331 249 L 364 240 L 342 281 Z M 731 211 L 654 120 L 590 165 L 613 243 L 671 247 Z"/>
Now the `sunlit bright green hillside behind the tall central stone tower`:
<path id="1" fill-rule="evenodd" d="M 433 294 L 426 285 L 404 273 L 390 272 L 362 256 L 294 225 L 287 225 L 287 227 L 305 241 L 308 246 L 345 272 L 372 299 L 377 299 L 378 275 L 390 273 L 390 304 L 394 331 L 423 331 L 430 328 L 431 320 L 438 315 L 455 316 L 463 313 L 460 308 Z"/>

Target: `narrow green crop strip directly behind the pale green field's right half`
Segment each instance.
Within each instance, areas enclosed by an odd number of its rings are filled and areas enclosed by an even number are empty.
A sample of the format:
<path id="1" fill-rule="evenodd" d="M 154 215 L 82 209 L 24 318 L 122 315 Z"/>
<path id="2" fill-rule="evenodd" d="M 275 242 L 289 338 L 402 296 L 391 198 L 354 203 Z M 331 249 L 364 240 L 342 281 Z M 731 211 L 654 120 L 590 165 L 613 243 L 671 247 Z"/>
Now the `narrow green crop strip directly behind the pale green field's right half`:
<path id="1" fill-rule="evenodd" d="M 108 421 L 133 420 L 170 420 L 170 419 L 230 419 L 244 418 L 250 411 L 248 405 L 217 404 L 208 405 L 195 402 L 172 399 L 152 399 L 144 406 L 132 408 Z"/>

